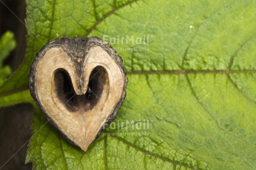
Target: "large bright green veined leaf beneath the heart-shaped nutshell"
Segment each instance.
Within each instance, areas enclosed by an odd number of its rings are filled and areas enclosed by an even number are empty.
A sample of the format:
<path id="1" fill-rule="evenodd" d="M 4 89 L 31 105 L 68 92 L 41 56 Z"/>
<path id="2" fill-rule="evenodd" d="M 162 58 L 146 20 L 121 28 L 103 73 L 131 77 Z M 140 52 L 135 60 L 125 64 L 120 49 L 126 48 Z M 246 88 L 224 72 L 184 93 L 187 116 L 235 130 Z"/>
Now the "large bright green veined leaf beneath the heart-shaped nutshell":
<path id="1" fill-rule="evenodd" d="M 129 83 L 119 116 L 87 152 L 35 106 L 26 162 L 35 169 L 256 168 L 255 19 L 252 0 L 27 0 L 27 55 L 0 93 L 27 86 L 36 52 L 62 36 L 107 40 Z"/>

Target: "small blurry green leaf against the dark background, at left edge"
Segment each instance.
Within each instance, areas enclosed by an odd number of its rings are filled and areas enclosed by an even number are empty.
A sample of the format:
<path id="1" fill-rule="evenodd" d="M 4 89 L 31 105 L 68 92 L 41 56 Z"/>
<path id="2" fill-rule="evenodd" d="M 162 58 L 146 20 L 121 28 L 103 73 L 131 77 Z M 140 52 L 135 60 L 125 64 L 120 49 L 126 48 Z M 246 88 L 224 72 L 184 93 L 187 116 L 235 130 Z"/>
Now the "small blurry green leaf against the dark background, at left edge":
<path id="1" fill-rule="evenodd" d="M 0 39 L 0 85 L 3 83 L 4 79 L 11 74 L 11 68 L 9 66 L 3 66 L 3 61 L 15 47 L 16 41 L 14 34 L 7 31 Z"/>

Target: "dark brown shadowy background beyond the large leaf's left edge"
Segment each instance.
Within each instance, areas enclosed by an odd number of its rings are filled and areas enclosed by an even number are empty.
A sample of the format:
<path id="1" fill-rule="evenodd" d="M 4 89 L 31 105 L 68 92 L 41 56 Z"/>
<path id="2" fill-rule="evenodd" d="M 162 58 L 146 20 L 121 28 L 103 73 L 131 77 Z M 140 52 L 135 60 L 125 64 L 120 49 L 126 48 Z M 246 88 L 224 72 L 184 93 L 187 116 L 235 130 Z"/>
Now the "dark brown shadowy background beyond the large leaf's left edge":
<path id="1" fill-rule="evenodd" d="M 5 65 L 12 68 L 12 72 L 22 63 L 26 52 L 24 18 L 25 0 L 0 0 L 0 36 L 6 31 L 12 31 L 17 42 L 14 51 L 4 61 Z M 31 163 L 24 164 L 28 148 L 26 142 L 32 134 L 32 114 L 32 106 L 26 103 L 0 108 L 0 169 L 32 169 Z"/>

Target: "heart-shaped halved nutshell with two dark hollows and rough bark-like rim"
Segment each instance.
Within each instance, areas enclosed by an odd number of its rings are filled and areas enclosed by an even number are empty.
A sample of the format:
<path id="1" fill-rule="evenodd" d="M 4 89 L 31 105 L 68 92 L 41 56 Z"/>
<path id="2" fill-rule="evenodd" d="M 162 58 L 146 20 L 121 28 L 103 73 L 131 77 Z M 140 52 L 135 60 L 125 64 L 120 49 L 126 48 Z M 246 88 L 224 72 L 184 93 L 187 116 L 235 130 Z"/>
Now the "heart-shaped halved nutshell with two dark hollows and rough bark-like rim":
<path id="1" fill-rule="evenodd" d="M 29 88 L 48 121 L 86 151 L 125 99 L 122 59 L 97 37 L 63 37 L 32 63 Z"/>

